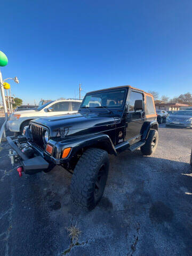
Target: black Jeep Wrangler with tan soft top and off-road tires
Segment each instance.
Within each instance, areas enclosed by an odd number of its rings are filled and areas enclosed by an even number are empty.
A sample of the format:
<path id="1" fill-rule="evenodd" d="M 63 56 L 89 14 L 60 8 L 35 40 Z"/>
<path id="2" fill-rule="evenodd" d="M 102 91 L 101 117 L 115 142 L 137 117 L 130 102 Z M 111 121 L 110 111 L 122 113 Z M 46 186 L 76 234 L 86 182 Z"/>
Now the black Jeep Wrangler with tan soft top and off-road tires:
<path id="1" fill-rule="evenodd" d="M 140 148 L 151 155 L 158 143 L 153 95 L 131 86 L 89 92 L 78 113 L 31 121 L 18 138 L 7 137 L 11 163 L 22 175 L 61 165 L 73 173 L 71 197 L 91 210 L 100 201 L 109 170 L 108 154 Z"/>

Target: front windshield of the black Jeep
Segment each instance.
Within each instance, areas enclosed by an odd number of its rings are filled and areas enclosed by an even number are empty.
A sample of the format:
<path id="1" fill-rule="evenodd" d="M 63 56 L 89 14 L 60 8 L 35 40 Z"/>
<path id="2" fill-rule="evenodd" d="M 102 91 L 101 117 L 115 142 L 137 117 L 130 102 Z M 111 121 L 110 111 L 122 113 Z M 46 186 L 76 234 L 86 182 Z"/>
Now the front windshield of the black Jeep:
<path id="1" fill-rule="evenodd" d="M 119 108 L 123 105 L 125 89 L 86 94 L 81 108 Z"/>

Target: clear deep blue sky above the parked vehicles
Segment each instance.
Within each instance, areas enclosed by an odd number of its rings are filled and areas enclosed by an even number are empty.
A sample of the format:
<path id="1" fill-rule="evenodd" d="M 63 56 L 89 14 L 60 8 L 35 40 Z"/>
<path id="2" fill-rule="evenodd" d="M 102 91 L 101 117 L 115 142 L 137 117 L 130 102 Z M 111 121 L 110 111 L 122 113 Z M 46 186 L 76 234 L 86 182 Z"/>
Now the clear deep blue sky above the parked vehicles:
<path id="1" fill-rule="evenodd" d="M 74 98 L 127 85 L 174 97 L 192 93 L 192 2 L 2 1 L 1 44 L 18 76 L 13 93 Z"/>

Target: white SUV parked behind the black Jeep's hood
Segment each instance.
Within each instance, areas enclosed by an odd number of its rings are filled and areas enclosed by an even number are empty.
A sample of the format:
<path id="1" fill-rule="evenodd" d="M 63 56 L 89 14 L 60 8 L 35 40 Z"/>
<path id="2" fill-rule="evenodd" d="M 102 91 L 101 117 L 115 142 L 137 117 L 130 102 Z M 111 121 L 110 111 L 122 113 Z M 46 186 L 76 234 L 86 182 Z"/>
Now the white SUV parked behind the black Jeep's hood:
<path id="1" fill-rule="evenodd" d="M 14 112 L 9 116 L 7 129 L 11 132 L 22 132 L 29 122 L 39 117 L 49 117 L 76 113 L 82 100 L 55 100 L 47 102 L 37 109 Z"/>

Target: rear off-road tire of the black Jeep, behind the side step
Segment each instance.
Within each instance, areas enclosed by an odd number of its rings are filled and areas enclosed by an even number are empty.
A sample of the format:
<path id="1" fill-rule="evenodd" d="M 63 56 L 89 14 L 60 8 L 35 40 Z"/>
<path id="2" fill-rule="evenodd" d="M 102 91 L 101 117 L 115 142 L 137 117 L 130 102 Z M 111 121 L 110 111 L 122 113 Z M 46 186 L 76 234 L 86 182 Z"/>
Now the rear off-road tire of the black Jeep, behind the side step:
<path id="1" fill-rule="evenodd" d="M 155 145 L 153 145 L 154 138 L 155 138 Z M 143 145 L 141 147 L 142 154 L 145 155 L 145 156 L 151 155 L 152 153 L 155 152 L 155 150 L 157 148 L 157 144 L 158 144 L 158 131 L 154 130 L 154 129 L 151 129 L 149 131 L 149 136 L 146 140 L 145 145 Z"/>

